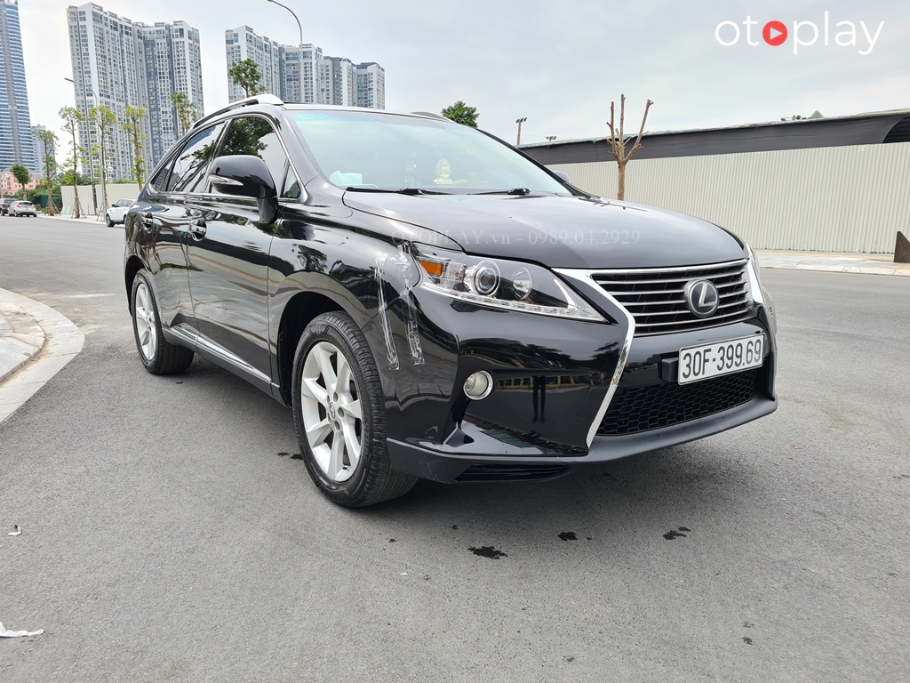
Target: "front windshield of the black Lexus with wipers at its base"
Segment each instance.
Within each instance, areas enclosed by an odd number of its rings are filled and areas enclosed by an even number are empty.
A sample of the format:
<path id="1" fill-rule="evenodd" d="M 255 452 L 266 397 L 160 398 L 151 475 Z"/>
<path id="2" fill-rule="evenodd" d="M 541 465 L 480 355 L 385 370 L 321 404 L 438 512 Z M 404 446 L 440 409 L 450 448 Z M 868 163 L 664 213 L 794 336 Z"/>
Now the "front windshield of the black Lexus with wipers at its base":
<path id="1" fill-rule="evenodd" d="M 528 159 L 460 124 L 365 111 L 289 116 L 323 175 L 339 188 L 569 194 Z"/>

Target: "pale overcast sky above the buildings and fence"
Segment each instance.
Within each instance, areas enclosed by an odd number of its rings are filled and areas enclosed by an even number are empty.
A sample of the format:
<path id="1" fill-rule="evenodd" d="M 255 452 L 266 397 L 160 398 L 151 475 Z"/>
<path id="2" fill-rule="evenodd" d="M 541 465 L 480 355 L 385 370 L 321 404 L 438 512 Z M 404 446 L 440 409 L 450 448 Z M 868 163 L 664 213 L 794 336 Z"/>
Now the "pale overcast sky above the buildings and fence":
<path id="1" fill-rule="evenodd" d="M 199 30 L 206 111 L 227 104 L 224 31 L 251 26 L 260 36 L 298 43 L 288 12 L 267 0 L 110 0 L 106 10 L 133 21 L 187 21 Z M 480 111 L 480 127 L 512 143 L 515 119 L 528 117 L 522 142 L 546 136 L 607 134 L 610 102 L 622 93 L 627 132 L 654 100 L 647 129 L 728 126 L 807 116 L 910 107 L 910 2 L 907 0 L 285 0 L 298 13 L 304 41 L 326 56 L 386 69 L 386 107 L 433 111 L 458 99 Z M 59 128 L 57 110 L 74 102 L 66 6 L 19 0 L 32 123 Z M 311 7 L 317 9 L 311 10 Z M 824 13 L 829 43 L 824 46 Z M 750 15 L 753 42 L 743 21 Z M 790 35 L 783 46 L 762 42 L 777 20 Z M 739 25 L 741 37 L 721 46 L 715 29 Z M 856 25 L 856 46 L 835 34 Z M 872 36 L 869 48 L 860 22 Z M 814 46 L 794 55 L 794 22 L 819 28 Z M 804 42 L 813 29 L 800 28 Z M 724 26 L 721 37 L 735 37 Z M 845 38 L 842 38 L 842 41 Z"/>

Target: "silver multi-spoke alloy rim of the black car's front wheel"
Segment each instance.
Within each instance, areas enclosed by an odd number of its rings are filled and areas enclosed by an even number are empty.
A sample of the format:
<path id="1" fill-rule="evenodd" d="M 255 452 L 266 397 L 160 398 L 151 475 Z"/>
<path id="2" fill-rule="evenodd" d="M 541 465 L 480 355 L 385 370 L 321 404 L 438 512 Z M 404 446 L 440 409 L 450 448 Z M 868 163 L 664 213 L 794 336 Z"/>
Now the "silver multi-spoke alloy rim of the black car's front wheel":
<path id="1" fill-rule="evenodd" d="M 329 479 L 347 481 L 363 452 L 360 392 L 348 359 L 330 342 L 307 354 L 300 382 L 300 408 L 309 449 Z"/>

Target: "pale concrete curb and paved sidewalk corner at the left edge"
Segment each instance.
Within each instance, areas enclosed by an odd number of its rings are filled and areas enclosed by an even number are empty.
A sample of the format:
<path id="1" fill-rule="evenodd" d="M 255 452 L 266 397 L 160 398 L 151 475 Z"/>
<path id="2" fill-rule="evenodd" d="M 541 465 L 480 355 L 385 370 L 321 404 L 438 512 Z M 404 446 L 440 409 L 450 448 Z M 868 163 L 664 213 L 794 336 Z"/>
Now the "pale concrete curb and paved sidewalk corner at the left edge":
<path id="1" fill-rule="evenodd" d="M 2 423 L 76 358 L 86 338 L 62 313 L 12 291 L 0 289 L 0 313 L 5 321 L 0 340 L 13 353 L 10 362 L 0 367 L 5 371 L 0 377 Z M 15 355 L 16 350 L 20 355 Z"/>

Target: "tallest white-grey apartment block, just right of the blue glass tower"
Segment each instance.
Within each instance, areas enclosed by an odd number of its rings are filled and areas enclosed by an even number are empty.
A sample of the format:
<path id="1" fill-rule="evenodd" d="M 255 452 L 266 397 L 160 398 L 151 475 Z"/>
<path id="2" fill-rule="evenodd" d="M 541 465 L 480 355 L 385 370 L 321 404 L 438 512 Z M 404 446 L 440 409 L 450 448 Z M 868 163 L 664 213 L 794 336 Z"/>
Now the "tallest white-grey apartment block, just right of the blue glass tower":
<path id="1" fill-rule="evenodd" d="M 203 114 L 198 31 L 182 21 L 134 22 L 94 3 L 70 5 L 66 16 L 76 109 L 87 116 L 92 107 L 107 107 L 121 122 L 127 106 L 146 109 L 144 161 L 152 168 L 183 133 L 171 93 L 184 93 L 196 105 L 196 116 Z M 87 153 L 83 172 L 97 177 L 94 126 L 79 127 L 79 144 Z M 121 127 L 110 132 L 106 152 L 108 179 L 133 178 L 133 145 Z"/>

